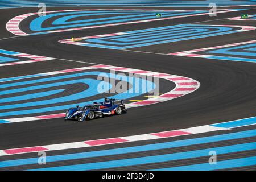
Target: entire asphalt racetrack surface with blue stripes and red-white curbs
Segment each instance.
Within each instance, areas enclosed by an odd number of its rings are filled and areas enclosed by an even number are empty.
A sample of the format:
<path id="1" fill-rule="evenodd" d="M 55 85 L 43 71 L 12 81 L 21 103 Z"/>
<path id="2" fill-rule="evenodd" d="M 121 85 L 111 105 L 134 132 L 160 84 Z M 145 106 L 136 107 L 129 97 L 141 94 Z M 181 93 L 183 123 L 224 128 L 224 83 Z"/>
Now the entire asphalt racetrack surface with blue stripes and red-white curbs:
<path id="1" fill-rule="evenodd" d="M 0 170 L 255 170 L 256 21 L 239 17 L 256 2 L 223 1 L 213 17 L 208 5 L 121 3 L 51 4 L 39 17 L 15 3 L 0 9 Z M 159 95 L 97 93 L 111 70 L 154 72 Z M 125 98 L 127 113 L 64 121 L 104 97 Z"/>

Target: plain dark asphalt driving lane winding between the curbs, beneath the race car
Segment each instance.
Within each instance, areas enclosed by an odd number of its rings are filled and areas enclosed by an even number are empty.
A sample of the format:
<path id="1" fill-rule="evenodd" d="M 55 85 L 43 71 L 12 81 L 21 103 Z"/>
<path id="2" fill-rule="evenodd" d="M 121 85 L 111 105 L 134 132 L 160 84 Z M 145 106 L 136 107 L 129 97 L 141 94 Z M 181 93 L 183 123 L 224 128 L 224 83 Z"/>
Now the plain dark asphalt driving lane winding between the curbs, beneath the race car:
<path id="1" fill-rule="evenodd" d="M 60 9 L 68 8 L 58 7 L 48 10 Z M 1 37 L 14 36 L 5 30 L 5 24 L 9 19 L 19 14 L 35 11 L 37 11 L 35 8 L 14 9 L 12 14 L 8 14 L 8 9 L 0 10 L 1 15 L 3 15 L 0 19 L 3 22 L 0 26 Z M 218 14 L 215 19 L 231 18 L 240 16 L 241 13 L 250 14 L 253 12 L 255 9 Z M 101 49 L 57 42 L 72 36 L 101 35 L 183 23 L 202 22 L 201 24 L 203 24 L 203 21 L 208 20 L 214 20 L 214 18 L 209 18 L 208 15 L 196 16 L 196 18 L 137 23 L 134 26 L 102 27 L 0 40 L 1 49 L 57 58 L 57 60 L 39 63 L 0 67 L 0 78 L 85 67 L 89 65 L 88 63 L 96 63 L 190 77 L 201 84 L 198 90 L 187 96 L 160 104 L 129 109 L 127 114 L 115 117 L 106 117 L 89 122 L 65 122 L 63 118 L 59 118 L 3 124 L 0 125 L 0 149 L 154 133 L 255 116 L 256 65 L 253 63 Z M 204 23 L 210 24 L 212 22 Z M 214 20 L 213 23 L 250 25 L 247 21 L 232 22 L 230 20 Z M 171 53 L 253 39 L 255 39 L 255 31 L 246 31 L 212 38 L 158 44 L 133 50 Z M 98 148 L 100 149 L 102 146 Z M 250 154 L 246 153 L 246 155 Z"/>

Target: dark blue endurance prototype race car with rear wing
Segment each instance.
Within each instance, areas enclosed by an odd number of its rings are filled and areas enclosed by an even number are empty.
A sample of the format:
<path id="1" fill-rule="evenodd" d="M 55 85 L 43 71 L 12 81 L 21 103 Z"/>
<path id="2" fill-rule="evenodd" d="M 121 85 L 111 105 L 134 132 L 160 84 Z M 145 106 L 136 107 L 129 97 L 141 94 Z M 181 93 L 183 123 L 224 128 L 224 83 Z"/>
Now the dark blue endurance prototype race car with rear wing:
<path id="1" fill-rule="evenodd" d="M 115 102 L 119 102 L 119 104 L 115 104 Z M 76 108 L 68 109 L 65 114 L 65 120 L 85 121 L 86 119 L 94 119 L 106 115 L 120 115 L 126 111 L 123 100 L 105 98 L 104 102 L 93 102 L 93 104 L 85 105 L 84 107 L 76 106 Z"/>

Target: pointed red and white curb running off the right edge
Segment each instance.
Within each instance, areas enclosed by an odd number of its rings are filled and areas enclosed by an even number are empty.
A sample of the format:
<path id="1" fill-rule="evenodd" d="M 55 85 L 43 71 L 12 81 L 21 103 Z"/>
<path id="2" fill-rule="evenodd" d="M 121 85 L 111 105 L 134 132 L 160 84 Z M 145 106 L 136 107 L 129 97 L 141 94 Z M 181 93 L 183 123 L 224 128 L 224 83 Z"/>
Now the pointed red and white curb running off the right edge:
<path id="1" fill-rule="evenodd" d="M 202 55 L 202 54 L 197 54 L 195 52 L 208 51 L 208 50 L 211 50 L 211 49 L 226 48 L 226 47 L 232 47 L 232 46 L 239 46 L 239 45 L 242 45 L 242 44 L 249 44 L 249 43 L 255 43 L 255 42 L 256 42 L 256 40 L 250 40 L 250 41 L 246 41 L 246 42 L 226 44 L 226 45 L 222 45 L 222 46 L 214 46 L 214 47 L 194 49 L 194 50 L 190 50 L 190 51 L 168 53 L 168 55 L 186 56 L 186 57 L 210 57 L 210 56 L 214 56 L 214 55 Z"/>

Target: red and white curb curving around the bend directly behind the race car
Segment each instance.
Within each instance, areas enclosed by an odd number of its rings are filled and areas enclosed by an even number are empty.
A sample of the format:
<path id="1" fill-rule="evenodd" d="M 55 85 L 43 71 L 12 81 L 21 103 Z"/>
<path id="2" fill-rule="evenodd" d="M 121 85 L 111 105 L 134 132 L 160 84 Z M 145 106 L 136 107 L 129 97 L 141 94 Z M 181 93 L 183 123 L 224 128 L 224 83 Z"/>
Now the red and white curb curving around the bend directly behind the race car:
<path id="1" fill-rule="evenodd" d="M 62 71 L 39 73 L 37 75 L 39 75 L 39 76 L 40 75 L 41 76 L 56 75 L 56 74 L 60 74 L 60 73 L 83 71 L 86 69 L 108 69 L 108 70 L 112 70 L 112 71 L 135 73 L 138 75 L 163 78 L 163 79 L 166 79 L 168 81 L 172 81 L 175 83 L 176 86 L 173 90 L 170 90 L 167 93 L 163 93 L 160 96 L 155 96 L 155 97 L 143 100 L 143 101 L 132 102 L 132 103 L 126 104 L 127 109 L 129 109 L 131 107 L 145 106 L 145 105 L 156 104 L 156 103 L 160 103 L 160 102 L 164 102 L 164 101 L 169 101 L 174 98 L 178 98 L 181 96 L 185 96 L 189 93 L 192 93 L 200 87 L 200 83 L 198 81 L 193 80 L 192 78 L 188 78 L 188 77 L 170 75 L 167 73 L 145 71 L 145 70 L 141 70 L 141 69 L 115 67 L 115 66 L 111 66 L 111 65 L 102 65 L 102 64 L 101 65 L 93 65 L 93 66 L 89 66 L 89 67 L 82 67 L 82 68 L 65 69 Z M 15 80 L 15 77 L 13 78 L 13 80 Z M 63 118 L 64 116 L 65 116 L 64 113 L 57 113 L 57 114 L 50 114 L 50 115 L 39 115 L 36 117 L 11 118 L 11 119 L 1 119 L 1 120 L 6 121 L 6 123 L 13 123 L 13 122 L 35 121 L 35 120 L 42 120 L 42 119 Z M 5 123 L 2 123 L 2 124 L 5 124 Z"/>

